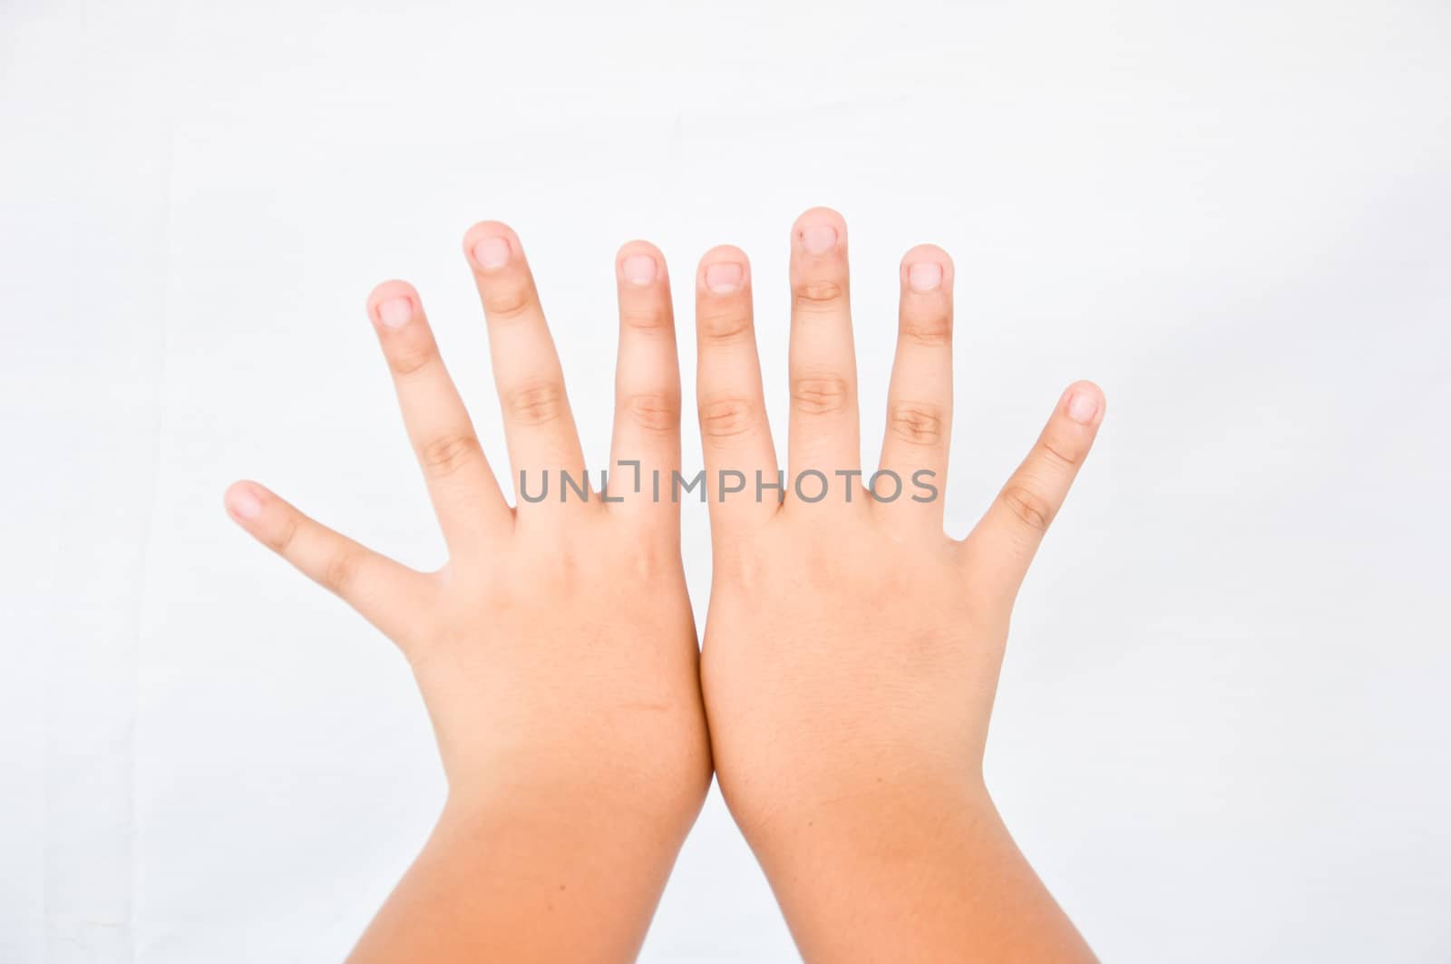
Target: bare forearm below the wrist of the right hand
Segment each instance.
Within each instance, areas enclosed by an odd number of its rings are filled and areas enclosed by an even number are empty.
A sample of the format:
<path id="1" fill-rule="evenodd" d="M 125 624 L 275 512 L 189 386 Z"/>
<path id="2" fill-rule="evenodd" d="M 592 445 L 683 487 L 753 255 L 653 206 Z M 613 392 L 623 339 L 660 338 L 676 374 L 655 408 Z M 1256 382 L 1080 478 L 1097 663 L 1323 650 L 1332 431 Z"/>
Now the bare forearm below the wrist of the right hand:
<path id="1" fill-rule="evenodd" d="M 987 793 L 874 790 L 753 846 L 807 961 L 1093 961 Z"/>

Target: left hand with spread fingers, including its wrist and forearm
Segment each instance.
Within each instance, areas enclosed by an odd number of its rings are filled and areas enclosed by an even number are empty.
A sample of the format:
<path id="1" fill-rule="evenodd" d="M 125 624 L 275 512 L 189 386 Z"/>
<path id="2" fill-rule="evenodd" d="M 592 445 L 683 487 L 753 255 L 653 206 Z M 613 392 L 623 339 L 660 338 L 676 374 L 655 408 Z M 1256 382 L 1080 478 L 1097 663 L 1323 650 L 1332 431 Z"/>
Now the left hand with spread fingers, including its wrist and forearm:
<path id="1" fill-rule="evenodd" d="M 518 237 L 480 224 L 464 251 L 514 478 L 534 497 L 547 476 L 548 498 L 505 502 L 418 293 L 387 282 L 367 311 L 448 562 L 408 569 L 252 482 L 226 507 L 398 643 L 438 738 L 444 814 L 355 960 L 625 960 L 711 777 L 678 505 L 628 485 L 609 504 L 560 501 L 560 472 L 577 482 L 585 460 Z M 614 459 L 669 478 L 681 380 L 665 260 L 633 242 L 615 273 Z"/>

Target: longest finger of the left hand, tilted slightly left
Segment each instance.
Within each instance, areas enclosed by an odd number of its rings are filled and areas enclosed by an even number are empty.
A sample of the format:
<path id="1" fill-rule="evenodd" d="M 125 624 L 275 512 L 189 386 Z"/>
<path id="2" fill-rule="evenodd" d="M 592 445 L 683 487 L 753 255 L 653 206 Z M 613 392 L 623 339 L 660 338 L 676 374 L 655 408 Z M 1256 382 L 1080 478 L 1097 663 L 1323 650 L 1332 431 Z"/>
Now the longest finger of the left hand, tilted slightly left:
<path id="1" fill-rule="evenodd" d="M 564 395 L 564 372 L 534 290 L 534 276 L 518 235 L 498 221 L 470 228 L 464 251 L 489 319 L 489 354 L 503 407 L 514 483 L 518 486 L 519 473 L 525 473 L 524 488 L 537 497 L 547 478 L 548 497 L 535 501 L 538 505 L 557 504 L 563 473 L 583 488 L 585 453 Z M 535 501 L 519 491 L 518 510 L 525 512 Z M 579 505 L 577 491 L 570 489 L 566 501 Z"/>

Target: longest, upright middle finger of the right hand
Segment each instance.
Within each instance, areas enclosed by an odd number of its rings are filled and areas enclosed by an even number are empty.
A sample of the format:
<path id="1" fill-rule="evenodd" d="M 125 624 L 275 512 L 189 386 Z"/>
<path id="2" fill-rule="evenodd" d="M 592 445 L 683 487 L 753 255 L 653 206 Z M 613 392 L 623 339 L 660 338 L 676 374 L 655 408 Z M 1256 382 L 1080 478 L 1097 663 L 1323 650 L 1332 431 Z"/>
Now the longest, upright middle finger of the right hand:
<path id="1" fill-rule="evenodd" d="M 789 469 L 834 473 L 862 466 L 856 350 L 847 302 L 846 222 L 813 208 L 791 231 Z"/>

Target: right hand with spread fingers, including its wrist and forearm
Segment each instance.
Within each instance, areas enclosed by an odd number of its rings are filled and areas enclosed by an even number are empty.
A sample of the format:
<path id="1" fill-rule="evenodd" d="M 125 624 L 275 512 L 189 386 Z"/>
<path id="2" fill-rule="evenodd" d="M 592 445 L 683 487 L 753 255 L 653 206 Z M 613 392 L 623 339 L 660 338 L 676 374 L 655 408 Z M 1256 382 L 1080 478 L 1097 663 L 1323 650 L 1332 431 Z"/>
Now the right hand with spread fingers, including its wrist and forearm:
<path id="1" fill-rule="evenodd" d="M 997 819 L 981 761 L 1014 595 L 1104 401 L 1069 386 L 978 527 L 948 539 L 952 282 L 940 248 L 903 258 L 881 454 L 897 482 L 876 478 L 878 501 L 850 476 L 846 225 L 826 209 L 798 219 L 778 502 L 755 498 L 756 473 L 773 482 L 778 469 L 746 256 L 715 248 L 696 276 L 714 543 L 705 707 L 721 791 L 808 960 L 1091 957 Z M 740 478 L 746 491 L 720 495 Z"/>

